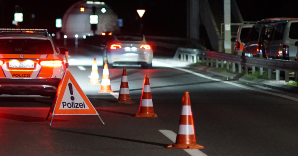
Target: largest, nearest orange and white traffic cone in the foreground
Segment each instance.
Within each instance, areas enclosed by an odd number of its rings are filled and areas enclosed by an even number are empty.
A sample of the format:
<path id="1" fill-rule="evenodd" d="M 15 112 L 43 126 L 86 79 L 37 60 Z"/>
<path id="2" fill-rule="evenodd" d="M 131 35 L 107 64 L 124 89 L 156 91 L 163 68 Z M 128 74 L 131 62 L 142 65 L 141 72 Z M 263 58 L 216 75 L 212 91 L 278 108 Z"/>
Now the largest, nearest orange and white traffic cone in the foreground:
<path id="1" fill-rule="evenodd" d="M 167 146 L 173 149 L 204 149 L 203 146 L 195 142 L 195 129 L 193 126 L 193 113 L 190 107 L 189 92 L 185 92 L 182 99 L 182 112 L 180 116 L 180 125 L 176 137 L 176 143 Z"/>

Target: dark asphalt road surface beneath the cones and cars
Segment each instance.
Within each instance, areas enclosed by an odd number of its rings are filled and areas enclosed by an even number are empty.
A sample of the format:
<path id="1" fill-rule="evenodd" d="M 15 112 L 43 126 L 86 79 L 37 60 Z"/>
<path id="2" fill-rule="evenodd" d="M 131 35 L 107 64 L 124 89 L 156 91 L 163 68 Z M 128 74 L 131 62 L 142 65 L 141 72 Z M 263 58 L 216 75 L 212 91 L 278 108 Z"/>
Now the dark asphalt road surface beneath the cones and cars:
<path id="1" fill-rule="evenodd" d="M 78 48 L 70 58 L 76 63 L 84 62 L 81 66 L 86 70 L 73 65 L 70 71 L 105 125 L 97 116 L 55 116 L 52 127 L 49 127 L 44 121 L 53 99 L 1 95 L 1 156 L 190 155 L 184 150 L 165 148 L 173 142 L 159 132 L 171 130 L 177 133 L 184 91 L 190 92 L 196 140 L 205 147 L 200 151 L 206 155 L 297 155 L 296 101 L 203 78 L 177 68 L 162 67 L 162 63 L 169 61 L 157 59 L 152 70 L 127 67 L 131 99 L 136 103 L 117 104 L 114 96 L 97 93 L 100 85 L 88 85 L 92 62 L 88 65 L 86 60 L 92 61 L 96 56 L 100 65 L 100 54 L 91 47 Z M 102 66 L 99 71 L 102 72 Z M 122 67 L 109 69 L 109 72 L 112 90 L 117 92 Z M 139 110 L 145 74 L 149 74 L 158 118 L 133 117 Z"/>

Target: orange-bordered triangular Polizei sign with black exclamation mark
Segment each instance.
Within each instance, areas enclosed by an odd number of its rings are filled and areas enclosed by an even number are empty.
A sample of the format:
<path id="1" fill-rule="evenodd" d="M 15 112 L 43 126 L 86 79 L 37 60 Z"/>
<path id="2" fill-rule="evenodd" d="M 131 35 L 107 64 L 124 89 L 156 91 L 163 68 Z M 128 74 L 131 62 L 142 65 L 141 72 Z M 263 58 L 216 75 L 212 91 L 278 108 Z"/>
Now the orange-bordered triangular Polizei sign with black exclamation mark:
<path id="1" fill-rule="evenodd" d="M 53 115 L 98 115 L 68 68 L 57 94 Z"/>

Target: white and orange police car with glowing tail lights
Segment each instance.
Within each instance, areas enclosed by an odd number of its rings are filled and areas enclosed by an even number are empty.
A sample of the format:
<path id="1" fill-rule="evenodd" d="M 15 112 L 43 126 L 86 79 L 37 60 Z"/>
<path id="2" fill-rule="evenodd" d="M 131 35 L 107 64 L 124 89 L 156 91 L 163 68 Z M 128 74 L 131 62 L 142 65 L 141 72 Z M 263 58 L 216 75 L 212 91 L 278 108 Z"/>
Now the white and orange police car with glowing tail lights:
<path id="1" fill-rule="evenodd" d="M 54 96 L 67 51 L 47 29 L 0 29 L 0 95 Z"/>

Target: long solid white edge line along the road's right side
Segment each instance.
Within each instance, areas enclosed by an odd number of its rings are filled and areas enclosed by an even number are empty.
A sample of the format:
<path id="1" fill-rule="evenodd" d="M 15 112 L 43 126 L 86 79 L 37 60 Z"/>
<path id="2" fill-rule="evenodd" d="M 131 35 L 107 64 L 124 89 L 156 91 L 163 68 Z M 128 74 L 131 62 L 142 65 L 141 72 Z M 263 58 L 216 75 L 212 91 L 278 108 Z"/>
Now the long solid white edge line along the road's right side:
<path id="1" fill-rule="evenodd" d="M 253 90 L 253 91 L 258 91 L 258 92 L 261 92 L 261 93 L 266 93 L 266 94 L 270 94 L 270 95 L 274 95 L 274 96 L 279 96 L 279 97 L 283 97 L 285 99 L 290 99 L 290 100 L 293 100 L 293 101 L 297 101 L 298 102 L 298 99 L 297 98 L 294 98 L 294 97 L 291 97 L 291 96 L 287 96 L 287 95 L 283 95 L 283 94 L 278 94 L 278 93 L 272 93 L 272 92 L 269 92 L 269 91 L 264 91 L 264 90 L 261 90 L 261 89 L 258 89 L 258 88 L 252 88 L 252 87 L 248 87 L 248 86 L 245 86 L 245 85 L 240 85 L 240 84 L 229 82 L 229 81 L 223 81 L 221 79 L 215 79 L 215 78 L 212 78 L 212 77 L 208 77 L 206 75 L 199 74 L 199 73 L 196 73 L 194 71 L 187 70 L 187 69 L 177 68 L 177 67 L 174 67 L 172 65 L 168 65 L 168 64 L 165 64 L 165 63 L 160 63 L 160 62 L 157 62 L 157 61 L 154 61 L 154 62 L 157 63 L 157 64 L 160 64 L 160 65 L 163 65 L 164 67 L 174 68 L 174 69 L 177 69 L 177 70 L 180 70 L 180 71 L 184 71 L 184 72 L 187 72 L 187 73 L 190 73 L 190 74 L 199 76 L 199 77 L 203 77 L 203 78 L 206 78 L 206 79 L 210 79 L 210 80 L 213 80 L 213 81 L 219 81 L 219 82 L 223 82 L 223 83 L 226 83 L 226 84 L 234 85 L 234 86 L 237 86 L 237 87 L 240 87 L 240 88 L 245 88 L 245 89 L 249 89 L 249 90 Z"/>

